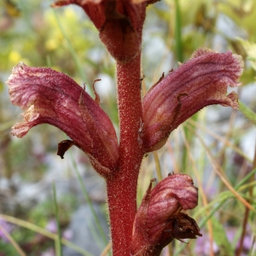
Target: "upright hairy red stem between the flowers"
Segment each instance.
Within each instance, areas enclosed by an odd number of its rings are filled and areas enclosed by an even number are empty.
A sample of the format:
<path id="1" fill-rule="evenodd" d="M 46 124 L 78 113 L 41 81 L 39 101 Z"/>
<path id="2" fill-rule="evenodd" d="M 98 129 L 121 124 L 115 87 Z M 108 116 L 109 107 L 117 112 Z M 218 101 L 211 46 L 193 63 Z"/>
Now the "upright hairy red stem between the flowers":
<path id="1" fill-rule="evenodd" d="M 141 60 L 117 63 L 120 123 L 119 170 L 107 180 L 108 208 L 114 256 L 130 256 L 132 225 L 137 212 L 137 178 L 143 160 Z"/>

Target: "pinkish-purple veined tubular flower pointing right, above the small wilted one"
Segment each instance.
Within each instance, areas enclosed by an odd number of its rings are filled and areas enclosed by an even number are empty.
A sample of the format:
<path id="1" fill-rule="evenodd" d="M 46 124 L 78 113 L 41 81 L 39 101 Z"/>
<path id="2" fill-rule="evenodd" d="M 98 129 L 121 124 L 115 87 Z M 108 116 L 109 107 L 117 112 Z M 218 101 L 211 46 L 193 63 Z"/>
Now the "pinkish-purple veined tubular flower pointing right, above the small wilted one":
<path id="1" fill-rule="evenodd" d="M 227 87 L 240 85 L 243 70 L 240 55 L 198 49 L 191 59 L 168 73 L 143 99 L 144 147 L 161 148 L 171 131 L 208 105 L 239 108 L 238 97 Z"/>

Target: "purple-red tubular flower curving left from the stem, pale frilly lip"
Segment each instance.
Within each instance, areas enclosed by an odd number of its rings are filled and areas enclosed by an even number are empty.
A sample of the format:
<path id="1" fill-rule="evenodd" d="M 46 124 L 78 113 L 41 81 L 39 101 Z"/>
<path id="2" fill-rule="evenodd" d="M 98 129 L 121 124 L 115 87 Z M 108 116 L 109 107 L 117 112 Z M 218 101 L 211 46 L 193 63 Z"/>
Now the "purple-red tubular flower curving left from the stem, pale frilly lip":
<path id="1" fill-rule="evenodd" d="M 72 141 L 59 144 L 63 158 L 72 145 L 81 148 L 96 171 L 107 176 L 116 167 L 119 148 L 108 115 L 73 79 L 50 68 L 28 67 L 20 62 L 7 82 L 10 101 L 26 110 L 12 134 L 24 137 L 33 126 L 55 125 Z"/>

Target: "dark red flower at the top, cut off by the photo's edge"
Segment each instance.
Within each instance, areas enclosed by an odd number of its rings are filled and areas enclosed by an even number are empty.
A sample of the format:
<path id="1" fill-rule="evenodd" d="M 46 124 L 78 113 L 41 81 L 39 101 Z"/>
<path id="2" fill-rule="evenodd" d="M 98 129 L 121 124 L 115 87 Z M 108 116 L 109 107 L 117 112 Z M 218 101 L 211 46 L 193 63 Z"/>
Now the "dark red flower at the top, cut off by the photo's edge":
<path id="1" fill-rule="evenodd" d="M 53 7 L 74 3 L 84 9 L 99 31 L 102 43 L 117 61 L 136 57 L 142 44 L 146 7 L 156 1 L 57 0 Z"/>

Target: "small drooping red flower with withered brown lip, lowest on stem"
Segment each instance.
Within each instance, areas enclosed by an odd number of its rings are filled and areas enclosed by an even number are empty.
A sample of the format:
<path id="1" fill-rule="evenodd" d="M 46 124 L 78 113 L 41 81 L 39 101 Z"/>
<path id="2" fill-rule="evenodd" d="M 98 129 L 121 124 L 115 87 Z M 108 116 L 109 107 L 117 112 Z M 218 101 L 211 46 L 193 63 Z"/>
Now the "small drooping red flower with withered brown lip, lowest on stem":
<path id="1" fill-rule="evenodd" d="M 201 236 L 195 220 L 182 210 L 197 206 L 198 194 L 185 174 L 166 177 L 152 189 L 151 181 L 133 225 L 131 255 L 160 255 L 174 238 Z"/>

